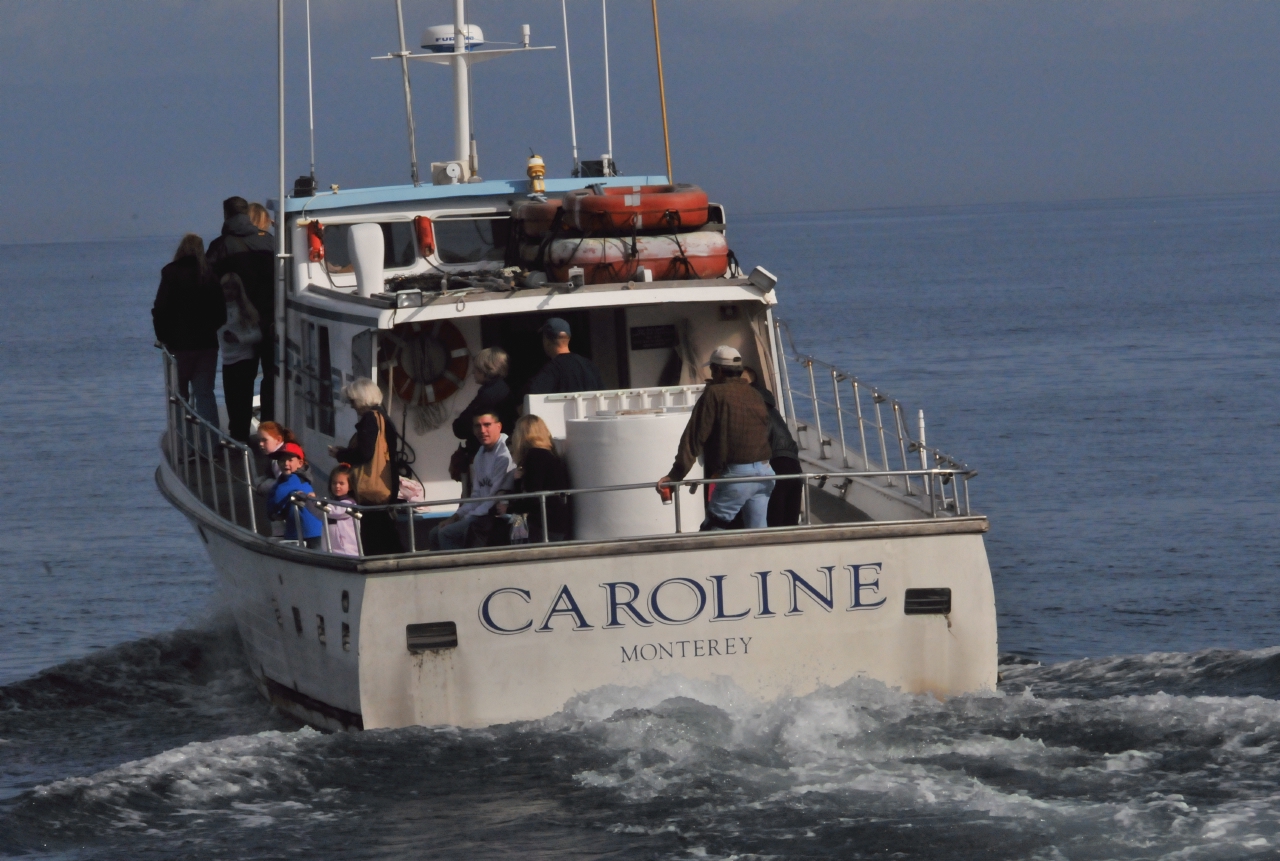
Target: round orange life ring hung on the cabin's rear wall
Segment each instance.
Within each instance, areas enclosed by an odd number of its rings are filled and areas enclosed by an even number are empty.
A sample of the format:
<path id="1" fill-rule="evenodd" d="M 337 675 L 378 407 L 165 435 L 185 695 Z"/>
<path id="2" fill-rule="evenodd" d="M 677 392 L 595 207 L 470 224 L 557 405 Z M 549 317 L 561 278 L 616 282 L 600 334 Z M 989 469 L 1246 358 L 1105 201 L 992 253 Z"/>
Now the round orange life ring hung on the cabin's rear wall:
<path id="1" fill-rule="evenodd" d="M 392 343 L 387 365 L 392 389 L 411 407 L 444 400 L 466 385 L 471 351 L 458 328 L 445 320 L 396 326 L 384 336 Z"/>

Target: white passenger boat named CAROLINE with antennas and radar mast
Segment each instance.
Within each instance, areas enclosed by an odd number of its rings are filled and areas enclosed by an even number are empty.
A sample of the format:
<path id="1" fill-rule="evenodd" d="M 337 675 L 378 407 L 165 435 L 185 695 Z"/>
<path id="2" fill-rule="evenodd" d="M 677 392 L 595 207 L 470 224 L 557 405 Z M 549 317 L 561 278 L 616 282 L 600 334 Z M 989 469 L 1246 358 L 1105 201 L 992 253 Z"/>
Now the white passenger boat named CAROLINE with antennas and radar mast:
<path id="1" fill-rule="evenodd" d="M 279 9 L 283 27 L 283 0 Z M 430 182 L 419 182 L 413 152 L 411 184 L 320 191 L 303 177 L 289 194 L 282 119 L 270 207 L 284 333 L 274 418 L 297 432 L 323 491 L 334 467 L 326 446 L 356 422 L 338 393 L 357 377 L 378 383 L 422 485 L 385 507 L 404 551 L 337 555 L 273 536 L 255 453 L 195 412 L 164 353 L 156 485 L 205 545 L 264 696 L 343 731 L 536 719 L 590 690 L 663 678 L 764 701 L 855 677 L 938 697 L 993 688 L 988 519 L 969 499 L 977 473 L 925 441 L 923 412 L 796 351 L 764 267 L 744 271 L 726 255 L 714 271 L 635 265 L 588 278 L 554 255 L 541 269 L 512 260 L 521 207 L 538 205 L 545 238 L 566 198 L 671 187 L 669 150 L 666 174 L 613 175 L 611 152 L 576 171 L 586 177 L 545 177 L 535 157 L 526 177 L 481 179 L 467 68 L 538 50 L 527 28 L 521 47 L 486 51 L 457 0 L 454 38 L 433 28 L 415 55 L 401 32 L 389 56 L 406 69 L 406 96 L 410 60 L 453 69 L 454 157 L 433 164 Z M 727 248 L 723 207 L 707 207 L 704 224 L 594 228 L 618 233 L 596 238 L 623 258 L 632 233 L 650 228 L 659 233 L 635 238 L 690 242 L 713 225 Z M 426 550 L 425 531 L 463 502 L 448 471 L 449 425 L 475 394 L 472 357 L 503 347 L 512 377 L 527 377 L 552 316 L 572 325 L 573 351 L 605 386 L 522 404 L 568 463 L 573 533 Z M 719 344 L 758 370 L 800 445 L 794 526 L 700 531 L 703 490 L 717 478 L 699 467 L 673 482 L 671 504 L 655 493 Z"/>

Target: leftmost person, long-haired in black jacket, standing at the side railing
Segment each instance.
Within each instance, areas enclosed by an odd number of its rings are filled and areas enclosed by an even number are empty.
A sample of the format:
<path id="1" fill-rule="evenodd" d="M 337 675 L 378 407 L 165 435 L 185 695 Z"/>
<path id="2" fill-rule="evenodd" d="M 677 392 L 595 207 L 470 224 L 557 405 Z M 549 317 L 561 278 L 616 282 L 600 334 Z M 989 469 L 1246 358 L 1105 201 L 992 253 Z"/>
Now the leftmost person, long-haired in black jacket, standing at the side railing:
<path id="1" fill-rule="evenodd" d="M 205 241 L 188 233 L 178 243 L 173 262 L 160 270 L 160 288 L 151 306 L 156 340 L 178 361 L 178 391 L 196 413 L 214 425 L 218 400 L 218 330 L 227 322 L 227 306 L 205 257 Z"/>

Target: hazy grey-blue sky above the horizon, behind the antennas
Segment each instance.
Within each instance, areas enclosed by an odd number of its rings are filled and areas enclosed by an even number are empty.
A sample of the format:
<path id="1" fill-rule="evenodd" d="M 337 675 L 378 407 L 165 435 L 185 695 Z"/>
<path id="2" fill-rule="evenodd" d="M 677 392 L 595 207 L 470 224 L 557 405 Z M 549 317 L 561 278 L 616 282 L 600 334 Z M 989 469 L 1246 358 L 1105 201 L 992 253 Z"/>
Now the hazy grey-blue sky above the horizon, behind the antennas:
<path id="1" fill-rule="evenodd" d="M 403 0 L 411 45 L 449 0 Z M 672 170 L 731 214 L 1280 188 L 1272 0 L 659 0 Z M 605 150 L 600 0 L 568 0 L 580 154 Z M 471 0 L 480 173 L 567 175 L 554 0 Z M 608 0 L 613 154 L 666 171 L 648 0 Z M 321 187 L 408 180 L 394 0 L 311 0 Z M 212 237 L 276 188 L 275 3 L 0 0 L 0 243 Z M 285 1 L 288 174 L 308 171 L 303 0 Z M 419 160 L 452 84 L 412 67 Z M 74 225 L 74 228 L 72 228 Z"/>

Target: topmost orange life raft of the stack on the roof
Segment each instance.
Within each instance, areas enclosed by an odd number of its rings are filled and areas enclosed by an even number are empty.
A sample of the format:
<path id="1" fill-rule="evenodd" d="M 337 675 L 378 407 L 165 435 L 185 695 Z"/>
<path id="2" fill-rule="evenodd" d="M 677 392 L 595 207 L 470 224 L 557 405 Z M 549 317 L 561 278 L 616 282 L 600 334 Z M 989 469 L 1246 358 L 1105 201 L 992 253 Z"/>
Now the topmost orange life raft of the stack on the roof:
<path id="1" fill-rule="evenodd" d="M 698 186 L 593 186 L 564 196 L 564 223 L 585 233 L 695 230 L 707 224 Z"/>

